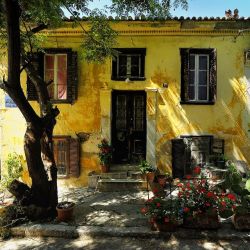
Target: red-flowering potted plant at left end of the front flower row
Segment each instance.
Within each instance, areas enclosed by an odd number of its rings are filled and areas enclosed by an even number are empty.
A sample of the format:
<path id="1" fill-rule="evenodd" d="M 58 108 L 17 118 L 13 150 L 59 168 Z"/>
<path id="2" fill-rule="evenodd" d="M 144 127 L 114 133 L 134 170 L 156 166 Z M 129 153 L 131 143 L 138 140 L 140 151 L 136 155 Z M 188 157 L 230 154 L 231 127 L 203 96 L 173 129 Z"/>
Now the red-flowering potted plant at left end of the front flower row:
<path id="1" fill-rule="evenodd" d="M 149 218 L 152 230 L 174 231 L 181 220 L 179 202 L 154 196 L 145 202 L 141 213 Z"/>

